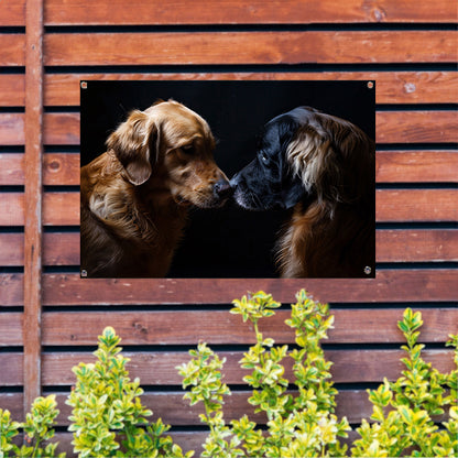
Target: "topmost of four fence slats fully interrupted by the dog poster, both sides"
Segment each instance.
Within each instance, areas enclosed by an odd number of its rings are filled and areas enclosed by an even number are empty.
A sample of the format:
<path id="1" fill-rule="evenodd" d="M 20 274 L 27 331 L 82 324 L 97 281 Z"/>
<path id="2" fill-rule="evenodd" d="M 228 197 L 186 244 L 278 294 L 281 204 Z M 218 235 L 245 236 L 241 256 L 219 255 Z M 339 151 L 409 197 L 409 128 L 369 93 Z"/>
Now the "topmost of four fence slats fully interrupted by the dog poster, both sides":
<path id="1" fill-rule="evenodd" d="M 378 143 L 452 143 L 456 141 L 457 121 L 455 111 L 379 111 L 375 113 L 375 140 Z M 3 145 L 24 143 L 23 122 L 22 113 L 0 113 Z M 79 113 L 45 115 L 44 142 L 79 144 Z"/>

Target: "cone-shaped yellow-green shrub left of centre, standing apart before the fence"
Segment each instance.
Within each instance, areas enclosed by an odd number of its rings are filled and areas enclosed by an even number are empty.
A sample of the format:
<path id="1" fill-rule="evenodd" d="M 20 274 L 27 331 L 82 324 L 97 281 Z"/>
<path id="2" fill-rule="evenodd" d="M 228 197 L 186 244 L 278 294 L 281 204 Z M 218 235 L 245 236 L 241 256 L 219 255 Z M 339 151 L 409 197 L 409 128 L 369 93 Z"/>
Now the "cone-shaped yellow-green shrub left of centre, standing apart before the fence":
<path id="1" fill-rule="evenodd" d="M 152 412 L 140 402 L 140 380 L 130 381 L 120 355 L 120 338 L 107 327 L 99 336 L 95 363 L 79 363 L 73 371 L 76 386 L 67 404 L 73 407 L 69 430 L 75 452 L 81 458 L 183 457 L 182 449 L 163 434 L 170 428 L 159 419 L 149 425 Z M 186 457 L 192 454 L 186 454 Z"/>

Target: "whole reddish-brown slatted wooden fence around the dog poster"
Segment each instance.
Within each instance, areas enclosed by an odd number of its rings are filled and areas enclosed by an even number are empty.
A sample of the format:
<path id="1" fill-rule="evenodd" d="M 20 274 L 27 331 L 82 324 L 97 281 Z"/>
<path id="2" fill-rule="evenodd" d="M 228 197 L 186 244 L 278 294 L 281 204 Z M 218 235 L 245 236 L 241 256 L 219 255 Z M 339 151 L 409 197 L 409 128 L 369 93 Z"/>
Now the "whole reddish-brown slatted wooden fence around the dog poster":
<path id="1" fill-rule="evenodd" d="M 228 358 L 227 418 L 247 411 L 237 361 L 253 341 L 230 302 L 264 290 L 290 304 L 306 287 L 331 304 L 326 353 L 338 414 L 370 415 L 364 389 L 400 373 L 406 306 L 422 309 L 426 358 L 452 366 L 458 328 L 458 84 L 451 0 L 10 0 L 0 2 L 0 406 L 24 417 L 91 359 L 111 325 L 144 403 L 184 448 L 204 432 L 174 369 L 198 340 Z M 377 80 L 377 277 L 141 280 L 79 277 L 79 80 Z M 265 325 L 291 342 L 286 309 Z M 262 422 L 262 418 L 260 419 Z"/>

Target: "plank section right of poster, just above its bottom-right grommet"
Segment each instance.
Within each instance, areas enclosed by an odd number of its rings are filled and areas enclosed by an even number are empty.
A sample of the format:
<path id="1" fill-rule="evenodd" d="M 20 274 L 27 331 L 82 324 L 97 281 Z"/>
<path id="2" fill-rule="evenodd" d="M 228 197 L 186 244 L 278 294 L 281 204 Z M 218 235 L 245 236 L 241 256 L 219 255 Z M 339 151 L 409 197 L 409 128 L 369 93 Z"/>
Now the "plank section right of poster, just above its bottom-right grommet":
<path id="1" fill-rule="evenodd" d="M 458 230 L 378 230 L 378 262 L 458 261 Z"/>

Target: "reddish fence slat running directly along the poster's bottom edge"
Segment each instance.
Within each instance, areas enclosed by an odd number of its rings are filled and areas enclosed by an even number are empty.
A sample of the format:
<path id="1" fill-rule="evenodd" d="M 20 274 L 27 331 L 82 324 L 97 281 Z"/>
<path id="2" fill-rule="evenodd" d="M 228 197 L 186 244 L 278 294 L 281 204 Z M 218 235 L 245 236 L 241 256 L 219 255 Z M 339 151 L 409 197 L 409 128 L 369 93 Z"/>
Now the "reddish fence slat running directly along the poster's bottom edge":
<path id="1" fill-rule="evenodd" d="M 77 274 L 45 274 L 44 305 L 228 304 L 247 292 L 272 293 L 291 303 L 301 288 L 323 302 L 456 301 L 456 270 L 380 270 L 364 280 L 89 280 Z M 0 274 L 0 304 L 22 305 L 22 274 Z"/>

